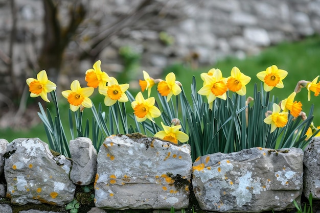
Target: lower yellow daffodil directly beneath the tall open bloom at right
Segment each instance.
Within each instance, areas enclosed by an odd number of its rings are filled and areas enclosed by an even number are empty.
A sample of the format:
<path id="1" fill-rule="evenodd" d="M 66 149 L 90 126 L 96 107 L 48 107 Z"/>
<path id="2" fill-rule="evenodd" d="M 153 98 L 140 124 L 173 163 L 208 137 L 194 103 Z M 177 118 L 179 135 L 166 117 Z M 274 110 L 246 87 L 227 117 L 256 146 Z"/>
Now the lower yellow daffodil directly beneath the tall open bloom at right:
<path id="1" fill-rule="evenodd" d="M 272 105 L 272 114 L 267 116 L 263 121 L 271 125 L 271 132 L 278 127 L 284 127 L 288 123 L 288 112 L 280 112 L 281 108 L 278 104 Z"/>

